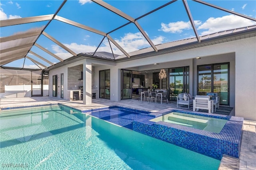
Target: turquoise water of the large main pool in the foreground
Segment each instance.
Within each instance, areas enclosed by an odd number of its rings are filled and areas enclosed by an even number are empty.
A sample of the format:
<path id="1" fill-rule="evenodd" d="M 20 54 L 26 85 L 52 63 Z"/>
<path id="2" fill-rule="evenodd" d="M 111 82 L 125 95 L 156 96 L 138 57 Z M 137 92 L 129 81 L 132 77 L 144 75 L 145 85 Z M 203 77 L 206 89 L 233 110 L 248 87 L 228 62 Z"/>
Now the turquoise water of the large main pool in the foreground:
<path id="1" fill-rule="evenodd" d="M 33 170 L 216 170 L 220 164 L 214 158 L 64 106 L 1 111 L 0 125 L 1 166 L 27 164 L 26 169 Z"/>

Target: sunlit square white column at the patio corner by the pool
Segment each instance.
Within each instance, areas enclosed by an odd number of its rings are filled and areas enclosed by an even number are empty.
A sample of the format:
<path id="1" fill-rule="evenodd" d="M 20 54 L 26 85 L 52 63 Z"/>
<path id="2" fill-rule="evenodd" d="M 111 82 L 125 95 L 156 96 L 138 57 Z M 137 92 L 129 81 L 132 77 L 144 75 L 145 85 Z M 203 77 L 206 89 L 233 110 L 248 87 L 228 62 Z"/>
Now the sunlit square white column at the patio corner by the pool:
<path id="1" fill-rule="evenodd" d="M 92 63 L 84 60 L 83 63 L 83 103 L 92 104 Z"/>

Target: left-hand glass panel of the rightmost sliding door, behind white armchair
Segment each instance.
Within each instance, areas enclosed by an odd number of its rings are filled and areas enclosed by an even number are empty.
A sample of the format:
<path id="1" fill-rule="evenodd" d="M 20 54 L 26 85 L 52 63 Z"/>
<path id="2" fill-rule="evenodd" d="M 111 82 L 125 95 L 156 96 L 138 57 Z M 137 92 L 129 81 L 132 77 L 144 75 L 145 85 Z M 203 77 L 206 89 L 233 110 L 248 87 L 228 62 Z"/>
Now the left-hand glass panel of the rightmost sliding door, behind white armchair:
<path id="1" fill-rule="evenodd" d="M 198 66 L 198 95 L 205 96 L 212 92 L 212 66 Z"/>

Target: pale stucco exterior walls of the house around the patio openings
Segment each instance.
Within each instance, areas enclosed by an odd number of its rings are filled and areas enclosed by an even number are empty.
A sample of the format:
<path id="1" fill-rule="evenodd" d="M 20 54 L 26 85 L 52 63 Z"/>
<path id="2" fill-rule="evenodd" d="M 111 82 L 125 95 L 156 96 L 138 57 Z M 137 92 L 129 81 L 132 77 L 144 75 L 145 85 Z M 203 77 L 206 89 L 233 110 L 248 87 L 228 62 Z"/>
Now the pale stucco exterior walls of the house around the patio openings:
<path id="1" fill-rule="evenodd" d="M 110 69 L 110 100 L 119 101 L 121 96 L 120 69 L 122 68 L 138 67 L 138 70 L 145 70 L 145 68 L 153 70 L 190 66 L 190 90 L 195 95 L 197 88 L 197 65 L 230 62 L 230 106 L 234 106 L 236 116 L 256 121 L 255 47 L 256 37 L 250 37 L 122 63 L 91 60 L 91 63 L 96 63 L 96 66 L 94 66 L 94 86 L 96 89 L 99 87 L 99 71 Z M 195 60 L 196 57 L 201 57 L 201 60 Z M 76 62 L 75 64 L 78 65 L 80 63 L 83 63 L 83 61 Z M 154 65 L 154 63 L 160 64 Z M 60 74 L 62 69 L 58 68 L 50 71 L 50 84 L 52 84 L 52 75 Z M 52 96 L 52 85 L 50 85 L 49 94 Z"/>

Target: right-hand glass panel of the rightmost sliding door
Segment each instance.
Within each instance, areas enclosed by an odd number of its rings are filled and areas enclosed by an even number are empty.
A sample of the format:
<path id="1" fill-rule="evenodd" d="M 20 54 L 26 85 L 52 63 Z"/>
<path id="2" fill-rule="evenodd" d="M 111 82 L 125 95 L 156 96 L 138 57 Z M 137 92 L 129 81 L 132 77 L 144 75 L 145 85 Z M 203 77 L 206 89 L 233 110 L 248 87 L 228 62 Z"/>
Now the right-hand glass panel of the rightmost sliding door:
<path id="1" fill-rule="evenodd" d="M 213 73 L 213 92 L 218 93 L 220 104 L 229 105 L 228 64 L 214 65 Z"/>

